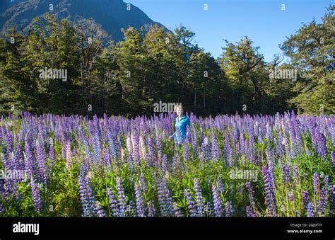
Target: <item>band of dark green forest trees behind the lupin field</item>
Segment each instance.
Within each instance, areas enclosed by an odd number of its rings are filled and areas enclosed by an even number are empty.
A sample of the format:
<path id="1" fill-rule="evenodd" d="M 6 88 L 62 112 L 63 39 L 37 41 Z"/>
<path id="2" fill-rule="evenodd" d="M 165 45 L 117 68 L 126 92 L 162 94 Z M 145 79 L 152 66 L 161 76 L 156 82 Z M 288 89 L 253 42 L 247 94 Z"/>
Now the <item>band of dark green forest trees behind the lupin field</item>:
<path id="1" fill-rule="evenodd" d="M 333 114 L 334 8 L 288 36 L 271 62 L 247 36 L 223 40 L 215 59 L 184 25 L 129 26 L 114 42 L 47 14 L 0 39 L 0 113 L 134 117 L 161 101 L 196 115 Z"/>

